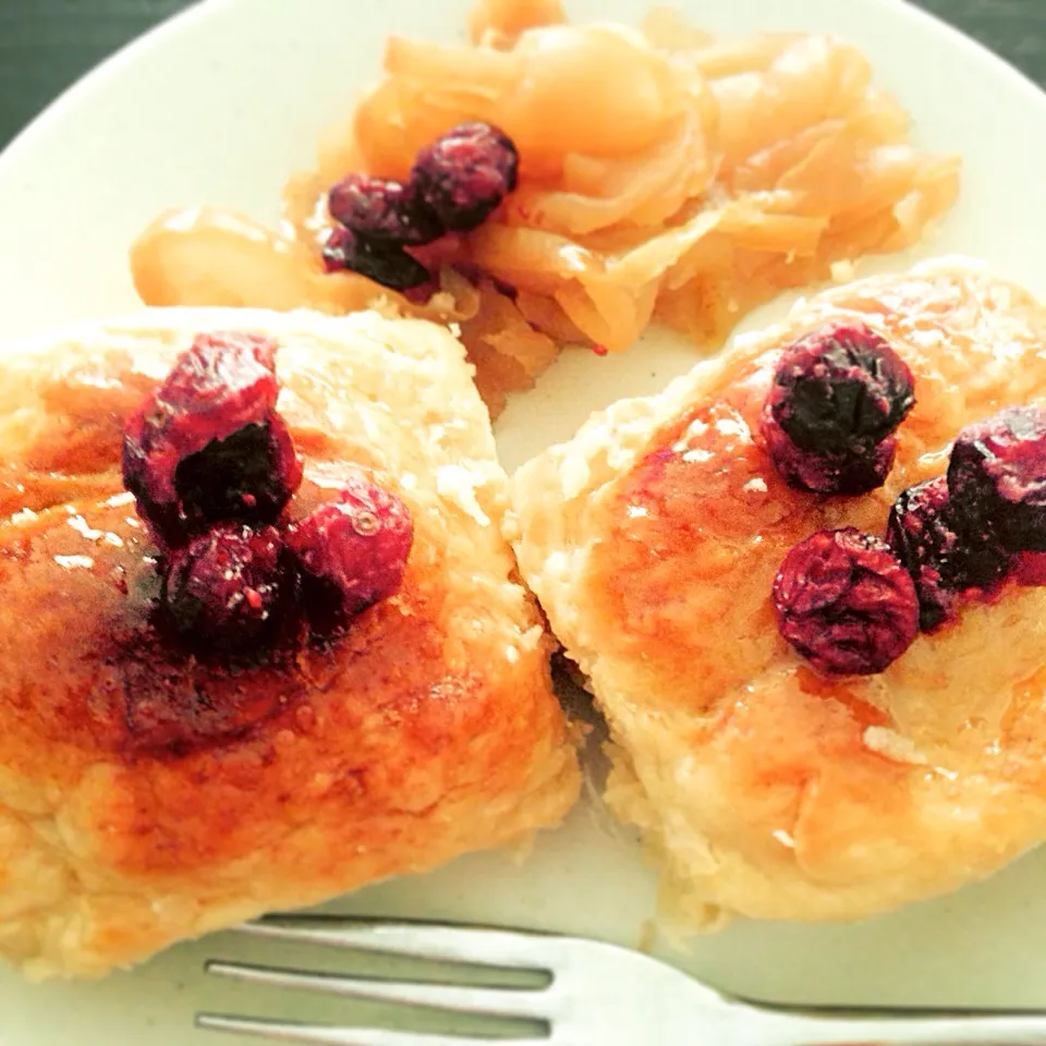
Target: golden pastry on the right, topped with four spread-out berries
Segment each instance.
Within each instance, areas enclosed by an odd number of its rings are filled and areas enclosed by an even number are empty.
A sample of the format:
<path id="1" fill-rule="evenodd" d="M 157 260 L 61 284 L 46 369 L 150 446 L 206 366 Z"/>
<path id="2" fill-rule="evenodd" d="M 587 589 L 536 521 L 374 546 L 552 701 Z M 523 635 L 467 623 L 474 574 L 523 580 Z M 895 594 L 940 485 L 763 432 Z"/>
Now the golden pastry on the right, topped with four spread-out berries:
<path id="1" fill-rule="evenodd" d="M 859 497 L 789 486 L 759 435 L 782 350 L 825 324 L 866 325 L 914 376 L 886 484 Z M 1046 836 L 1046 588 L 971 598 L 872 674 L 817 670 L 771 605 L 799 543 L 881 537 L 963 426 L 1042 404 L 1044 344 L 1027 292 L 927 263 L 801 302 L 516 473 L 521 570 L 609 721 L 607 802 L 642 829 L 684 922 L 867 916 Z"/>

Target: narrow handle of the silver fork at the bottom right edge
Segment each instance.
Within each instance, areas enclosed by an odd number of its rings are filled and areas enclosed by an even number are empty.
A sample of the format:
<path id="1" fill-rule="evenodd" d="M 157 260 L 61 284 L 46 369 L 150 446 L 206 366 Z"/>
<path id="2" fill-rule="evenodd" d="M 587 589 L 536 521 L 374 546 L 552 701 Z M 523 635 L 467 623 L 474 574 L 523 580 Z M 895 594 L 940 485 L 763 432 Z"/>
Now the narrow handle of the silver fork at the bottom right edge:
<path id="1" fill-rule="evenodd" d="M 1046 1013 L 782 1017 L 758 1046 L 1044 1046 Z M 755 1046 L 755 1044 L 753 1044 Z"/>

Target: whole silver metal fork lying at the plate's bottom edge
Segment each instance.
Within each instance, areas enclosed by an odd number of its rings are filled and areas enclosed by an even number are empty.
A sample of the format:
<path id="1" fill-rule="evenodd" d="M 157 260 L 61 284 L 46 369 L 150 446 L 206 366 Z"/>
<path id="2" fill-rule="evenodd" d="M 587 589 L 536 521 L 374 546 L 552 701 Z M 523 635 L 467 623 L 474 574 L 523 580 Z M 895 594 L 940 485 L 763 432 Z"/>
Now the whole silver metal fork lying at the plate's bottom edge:
<path id="1" fill-rule="evenodd" d="M 453 964 L 458 983 L 307 973 L 211 961 L 207 972 L 273 988 L 402 1004 L 448 1014 L 528 1022 L 427 1034 L 199 1013 L 197 1026 L 323 1046 L 1034 1046 L 1046 1044 L 1046 1012 L 911 1009 L 811 1010 L 730 998 L 655 959 L 576 937 L 423 922 L 332 915 L 277 915 L 242 933 L 299 944 L 380 952 Z M 461 965 L 466 964 L 466 965 Z M 462 984 L 469 968 L 538 974 L 537 987 Z M 449 968 L 448 968 L 449 969 Z M 417 1011 L 415 1010 L 415 1013 Z"/>

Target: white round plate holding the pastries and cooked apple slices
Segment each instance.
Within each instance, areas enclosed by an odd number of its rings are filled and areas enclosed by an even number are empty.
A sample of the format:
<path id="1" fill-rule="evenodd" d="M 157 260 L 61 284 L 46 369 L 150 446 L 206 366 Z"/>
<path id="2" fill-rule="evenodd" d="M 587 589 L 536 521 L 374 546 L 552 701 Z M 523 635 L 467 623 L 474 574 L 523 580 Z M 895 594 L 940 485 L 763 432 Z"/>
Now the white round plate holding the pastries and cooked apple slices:
<path id="1" fill-rule="evenodd" d="M 920 144 L 965 158 L 962 203 L 933 250 L 980 255 L 1046 291 L 1046 97 L 1015 72 L 900 0 L 677 4 L 715 31 L 830 31 L 860 45 L 914 114 Z M 376 74 L 386 35 L 394 27 L 446 38 L 464 24 L 467 7 L 210 0 L 110 61 L 0 158 L 3 337 L 133 307 L 125 248 L 163 207 L 207 202 L 275 221 L 285 175 L 309 166 L 320 129 Z M 569 8 L 579 20 L 635 23 L 645 3 L 574 0 Z M 745 326 L 782 308 L 778 302 Z M 657 339 L 621 360 L 564 358 L 507 412 L 499 426 L 507 463 L 569 436 L 591 408 L 660 388 L 691 358 Z M 739 923 L 661 951 L 709 983 L 757 997 L 1044 1005 L 1044 883 L 1046 855 L 1032 856 L 984 886 L 865 925 Z M 653 898 L 628 834 L 584 806 L 522 866 L 509 855 L 474 856 L 363 891 L 340 908 L 500 921 L 635 945 Z M 0 972 L 0 1046 L 211 1042 L 190 1030 L 195 1009 L 272 1009 L 256 992 L 206 984 L 199 972 L 206 956 L 244 951 L 230 936 L 214 937 L 101 984 L 26 987 Z"/>

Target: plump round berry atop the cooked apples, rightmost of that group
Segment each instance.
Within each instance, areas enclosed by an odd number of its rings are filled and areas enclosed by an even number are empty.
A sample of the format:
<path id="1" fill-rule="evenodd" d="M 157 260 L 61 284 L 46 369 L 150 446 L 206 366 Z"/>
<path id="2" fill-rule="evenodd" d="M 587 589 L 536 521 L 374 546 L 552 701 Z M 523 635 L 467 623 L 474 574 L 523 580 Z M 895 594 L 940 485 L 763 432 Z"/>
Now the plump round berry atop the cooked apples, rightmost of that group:
<path id="1" fill-rule="evenodd" d="M 411 184 L 446 229 L 467 232 L 515 188 L 519 163 L 507 134 L 462 123 L 418 151 Z"/>

